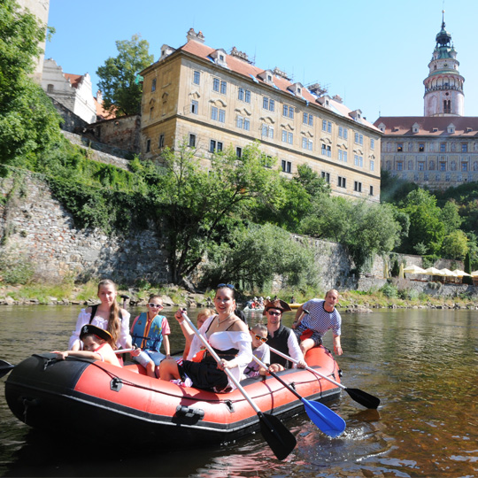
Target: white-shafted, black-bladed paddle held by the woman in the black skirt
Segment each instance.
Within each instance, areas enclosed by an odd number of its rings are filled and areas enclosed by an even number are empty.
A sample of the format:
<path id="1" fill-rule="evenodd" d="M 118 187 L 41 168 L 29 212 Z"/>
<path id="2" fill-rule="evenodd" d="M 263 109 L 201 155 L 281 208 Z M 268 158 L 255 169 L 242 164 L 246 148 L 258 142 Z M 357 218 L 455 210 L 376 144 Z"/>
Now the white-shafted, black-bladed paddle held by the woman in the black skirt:
<path id="1" fill-rule="evenodd" d="M 211 353 L 216 362 L 220 363 L 220 358 L 217 353 L 212 349 L 205 337 L 199 334 L 199 331 L 185 312 L 182 312 L 182 318 L 187 321 L 189 327 L 193 330 L 197 338 L 204 344 L 204 347 L 207 349 L 207 351 Z M 235 387 L 243 394 L 243 397 L 249 402 L 249 405 L 251 405 L 251 407 L 254 409 L 254 412 L 258 414 L 260 432 L 270 446 L 271 450 L 274 451 L 274 455 L 277 457 L 277 459 L 287 458 L 290 452 L 296 447 L 296 437 L 293 436 L 287 428 L 285 428 L 284 424 L 277 417 L 274 417 L 274 415 L 269 413 L 261 412 L 258 408 L 258 405 L 252 401 L 252 398 L 227 368 L 224 369 L 224 372 L 227 374 L 229 379 L 234 382 Z"/>

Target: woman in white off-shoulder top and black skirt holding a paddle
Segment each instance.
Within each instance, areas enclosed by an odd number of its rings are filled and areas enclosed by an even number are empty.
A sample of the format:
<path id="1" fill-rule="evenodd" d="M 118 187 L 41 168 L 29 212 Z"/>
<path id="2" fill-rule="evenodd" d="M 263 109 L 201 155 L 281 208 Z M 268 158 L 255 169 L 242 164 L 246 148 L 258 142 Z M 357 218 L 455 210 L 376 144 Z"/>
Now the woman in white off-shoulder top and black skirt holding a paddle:
<path id="1" fill-rule="evenodd" d="M 181 365 L 178 365 L 173 358 L 163 360 L 159 366 L 161 380 L 170 381 L 181 378 L 185 381 L 189 378 L 193 387 L 215 392 L 227 392 L 235 388 L 234 383 L 229 382 L 224 372 L 226 368 L 237 381 L 241 380 L 244 368 L 252 359 L 251 335 L 244 322 L 234 313 L 234 286 L 220 284 L 216 289 L 214 305 L 218 313 L 204 321 L 200 332 L 205 335 L 209 344 L 220 356 L 220 362 L 217 363 L 207 351 L 204 352 L 200 362 L 191 360 L 201 350 L 202 342 L 189 328 L 182 317 L 182 311 L 179 310 L 174 314 L 174 318 L 181 325 L 187 345 L 190 343 L 188 360 L 184 360 Z"/>

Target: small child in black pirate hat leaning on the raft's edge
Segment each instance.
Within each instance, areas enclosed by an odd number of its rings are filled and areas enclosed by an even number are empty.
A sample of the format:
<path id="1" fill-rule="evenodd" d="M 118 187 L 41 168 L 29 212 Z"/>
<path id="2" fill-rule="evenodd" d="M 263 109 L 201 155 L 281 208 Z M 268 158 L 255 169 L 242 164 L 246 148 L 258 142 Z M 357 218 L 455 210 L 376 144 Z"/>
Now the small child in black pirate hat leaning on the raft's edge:
<path id="1" fill-rule="evenodd" d="M 114 366 L 120 366 L 120 361 L 112 349 L 112 335 L 103 328 L 86 324 L 81 328 L 80 340 L 83 343 L 82 351 L 52 351 L 58 360 L 66 357 L 81 357 L 101 360 Z"/>

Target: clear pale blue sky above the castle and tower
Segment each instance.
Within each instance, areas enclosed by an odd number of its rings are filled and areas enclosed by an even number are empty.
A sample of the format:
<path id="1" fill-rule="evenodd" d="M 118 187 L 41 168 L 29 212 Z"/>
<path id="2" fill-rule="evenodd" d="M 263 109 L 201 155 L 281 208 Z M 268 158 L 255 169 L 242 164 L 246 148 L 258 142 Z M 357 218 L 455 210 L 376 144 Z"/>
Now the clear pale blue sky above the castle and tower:
<path id="1" fill-rule="evenodd" d="M 65 73 L 89 73 L 96 93 L 96 70 L 117 55 L 117 40 L 141 35 L 156 61 L 161 45 L 180 47 L 194 27 L 212 48 L 235 46 L 260 68 L 277 66 L 305 85 L 326 85 L 368 120 L 421 116 L 443 8 L 466 80 L 465 114 L 478 116 L 476 0 L 50 0 L 56 34 L 45 58 Z"/>

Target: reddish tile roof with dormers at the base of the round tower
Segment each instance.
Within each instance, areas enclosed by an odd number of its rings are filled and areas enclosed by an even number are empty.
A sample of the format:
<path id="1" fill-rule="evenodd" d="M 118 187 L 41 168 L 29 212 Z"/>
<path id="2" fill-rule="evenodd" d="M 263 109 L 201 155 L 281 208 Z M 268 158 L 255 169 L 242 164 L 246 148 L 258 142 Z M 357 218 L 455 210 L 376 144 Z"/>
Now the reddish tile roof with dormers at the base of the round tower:
<path id="1" fill-rule="evenodd" d="M 381 116 L 374 122 L 375 127 L 385 125 L 383 133 L 390 136 L 476 136 L 478 135 L 477 116 Z M 454 133 L 448 133 L 453 124 Z M 413 133 L 413 125 L 419 132 Z"/>

